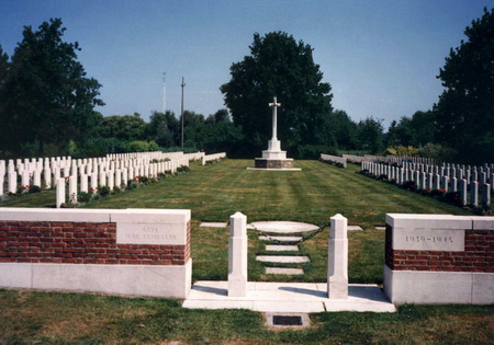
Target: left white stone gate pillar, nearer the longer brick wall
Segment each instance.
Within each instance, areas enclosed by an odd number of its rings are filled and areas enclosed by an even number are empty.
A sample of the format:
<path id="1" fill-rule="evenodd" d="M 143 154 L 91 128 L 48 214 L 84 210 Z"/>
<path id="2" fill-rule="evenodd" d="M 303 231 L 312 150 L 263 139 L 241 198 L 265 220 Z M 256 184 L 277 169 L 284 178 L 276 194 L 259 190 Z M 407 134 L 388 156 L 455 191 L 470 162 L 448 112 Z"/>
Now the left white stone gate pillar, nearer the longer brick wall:
<path id="1" fill-rule="evenodd" d="M 240 212 L 229 217 L 228 296 L 247 295 L 247 217 Z"/>

